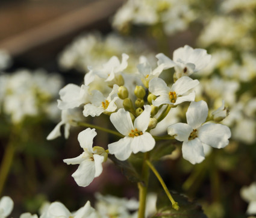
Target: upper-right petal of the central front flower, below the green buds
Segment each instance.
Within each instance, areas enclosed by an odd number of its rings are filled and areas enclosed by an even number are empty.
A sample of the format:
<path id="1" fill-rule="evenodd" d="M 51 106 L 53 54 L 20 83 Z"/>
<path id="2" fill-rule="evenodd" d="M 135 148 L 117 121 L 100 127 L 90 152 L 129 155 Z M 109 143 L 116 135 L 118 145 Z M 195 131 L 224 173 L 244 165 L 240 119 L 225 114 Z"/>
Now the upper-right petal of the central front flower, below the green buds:
<path id="1" fill-rule="evenodd" d="M 145 132 L 148 129 L 150 119 L 151 107 L 150 105 L 144 106 L 144 111 L 134 120 L 134 128 L 139 131 Z"/>

